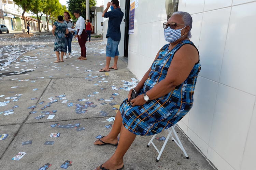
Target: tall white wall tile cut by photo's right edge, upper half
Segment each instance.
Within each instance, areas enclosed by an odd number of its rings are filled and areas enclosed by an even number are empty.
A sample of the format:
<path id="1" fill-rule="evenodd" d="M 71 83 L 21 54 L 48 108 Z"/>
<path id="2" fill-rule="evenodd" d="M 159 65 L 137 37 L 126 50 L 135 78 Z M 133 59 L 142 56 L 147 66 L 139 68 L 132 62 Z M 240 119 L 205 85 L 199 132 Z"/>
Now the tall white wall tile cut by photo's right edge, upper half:
<path id="1" fill-rule="evenodd" d="M 232 7 L 220 78 L 220 83 L 253 95 L 256 95 L 255 9 L 256 2 Z M 250 26 L 244 28 L 240 23 Z"/>

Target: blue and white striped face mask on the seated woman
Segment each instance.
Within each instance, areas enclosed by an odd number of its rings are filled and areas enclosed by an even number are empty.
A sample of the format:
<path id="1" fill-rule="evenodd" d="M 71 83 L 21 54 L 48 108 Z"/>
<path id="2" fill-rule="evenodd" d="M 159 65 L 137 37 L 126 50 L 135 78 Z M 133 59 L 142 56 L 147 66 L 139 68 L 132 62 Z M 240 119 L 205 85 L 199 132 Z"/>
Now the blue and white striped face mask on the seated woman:
<path id="1" fill-rule="evenodd" d="M 184 29 L 185 27 L 183 27 L 182 29 Z M 178 39 L 184 36 L 184 35 L 181 36 L 182 29 L 174 30 L 168 27 L 167 29 L 163 30 L 163 35 L 165 36 L 165 40 L 169 43 L 174 43 L 175 41 L 177 41 Z"/>

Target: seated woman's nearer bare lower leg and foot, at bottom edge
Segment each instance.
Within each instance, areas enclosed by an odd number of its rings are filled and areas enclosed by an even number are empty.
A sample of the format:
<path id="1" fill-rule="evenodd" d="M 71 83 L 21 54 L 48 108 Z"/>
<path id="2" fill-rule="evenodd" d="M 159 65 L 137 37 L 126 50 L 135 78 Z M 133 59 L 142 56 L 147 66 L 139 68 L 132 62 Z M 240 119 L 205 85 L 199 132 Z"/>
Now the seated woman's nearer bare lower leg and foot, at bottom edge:
<path id="1" fill-rule="evenodd" d="M 106 169 L 119 169 L 124 165 L 123 158 L 127 150 L 130 148 L 136 135 L 129 132 L 123 125 L 120 133 L 120 140 L 115 153 L 107 160 L 102 167 Z M 99 170 L 100 167 L 97 168 Z"/>

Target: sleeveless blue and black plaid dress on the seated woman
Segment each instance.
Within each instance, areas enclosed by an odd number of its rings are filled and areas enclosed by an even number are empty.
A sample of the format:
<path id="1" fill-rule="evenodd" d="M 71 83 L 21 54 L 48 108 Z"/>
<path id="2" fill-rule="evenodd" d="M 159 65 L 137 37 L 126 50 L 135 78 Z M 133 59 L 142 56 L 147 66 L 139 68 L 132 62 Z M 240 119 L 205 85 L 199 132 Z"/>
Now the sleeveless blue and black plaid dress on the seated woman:
<path id="1" fill-rule="evenodd" d="M 168 49 L 169 44 L 162 47 L 159 56 L 151 66 L 151 72 L 148 74 L 148 79 L 139 95 L 144 94 L 165 79 L 175 52 L 185 44 L 191 44 L 195 47 L 189 40 L 183 40 L 171 51 Z M 200 69 L 201 65 L 198 62 L 182 84 L 176 86 L 165 96 L 150 100 L 142 106 L 132 107 L 130 102 L 125 99 L 120 105 L 120 113 L 125 128 L 136 135 L 154 135 L 181 120 L 193 105 L 193 94 Z"/>

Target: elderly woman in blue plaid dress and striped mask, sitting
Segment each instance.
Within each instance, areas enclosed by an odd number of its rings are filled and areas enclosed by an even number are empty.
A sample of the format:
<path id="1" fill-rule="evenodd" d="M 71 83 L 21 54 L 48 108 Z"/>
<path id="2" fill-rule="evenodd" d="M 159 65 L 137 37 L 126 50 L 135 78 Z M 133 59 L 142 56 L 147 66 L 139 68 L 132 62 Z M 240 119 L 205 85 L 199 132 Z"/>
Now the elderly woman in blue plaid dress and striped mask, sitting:
<path id="1" fill-rule="evenodd" d="M 164 45 L 152 66 L 134 88 L 138 96 L 120 105 L 111 132 L 94 142 L 95 145 L 118 145 L 113 156 L 97 168 L 120 170 L 123 157 L 136 135 L 160 133 L 181 120 L 193 105 L 193 94 L 200 71 L 199 52 L 189 40 L 192 17 L 175 12 L 163 23 Z M 118 142 L 117 136 L 120 133 Z"/>

